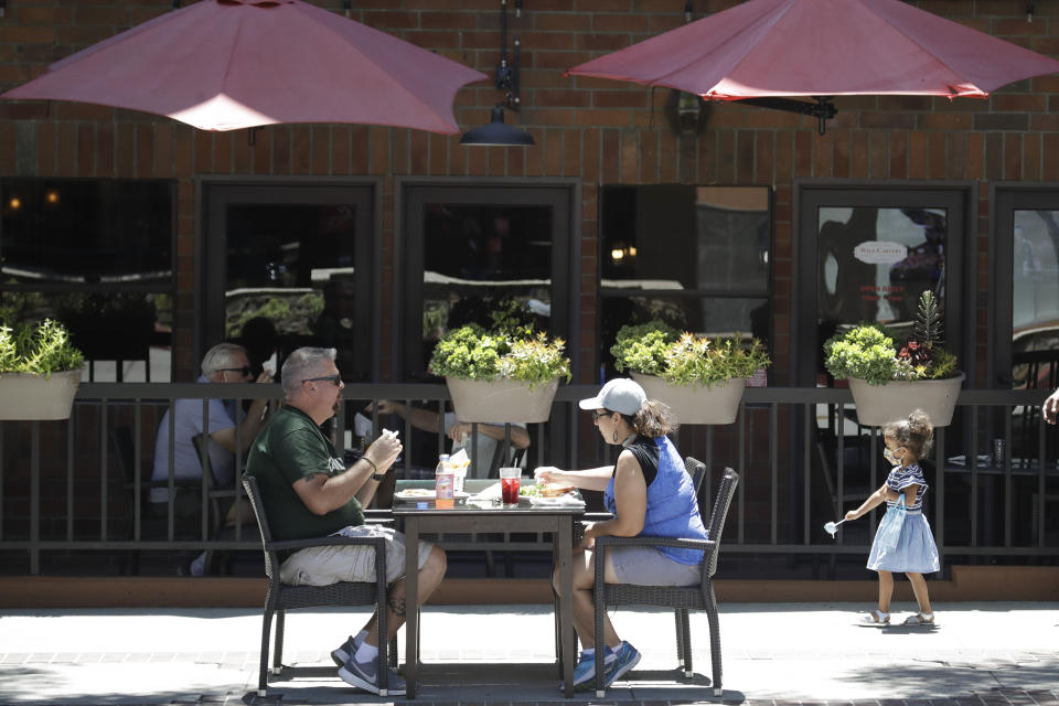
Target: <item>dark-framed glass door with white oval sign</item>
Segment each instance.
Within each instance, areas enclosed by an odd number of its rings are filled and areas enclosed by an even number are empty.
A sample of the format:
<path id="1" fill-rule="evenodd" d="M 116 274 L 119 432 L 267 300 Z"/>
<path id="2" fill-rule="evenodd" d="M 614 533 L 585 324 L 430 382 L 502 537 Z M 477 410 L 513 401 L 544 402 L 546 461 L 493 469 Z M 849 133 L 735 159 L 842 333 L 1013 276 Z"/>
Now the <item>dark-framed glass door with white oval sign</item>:
<path id="1" fill-rule="evenodd" d="M 802 184 L 798 193 L 795 383 L 826 381 L 823 344 L 841 329 L 867 321 L 909 332 L 926 289 L 944 306 L 945 347 L 973 379 L 969 190 Z"/>

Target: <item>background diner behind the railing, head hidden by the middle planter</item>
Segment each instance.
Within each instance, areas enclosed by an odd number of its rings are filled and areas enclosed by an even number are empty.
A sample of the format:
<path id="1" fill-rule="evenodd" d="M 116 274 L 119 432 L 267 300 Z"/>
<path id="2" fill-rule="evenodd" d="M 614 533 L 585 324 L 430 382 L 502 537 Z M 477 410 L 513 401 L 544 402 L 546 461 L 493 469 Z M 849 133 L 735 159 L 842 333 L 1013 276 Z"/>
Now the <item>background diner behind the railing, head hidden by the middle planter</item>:
<path id="1" fill-rule="evenodd" d="M 378 413 L 400 415 L 407 418 L 411 426 L 424 431 L 438 430 L 438 413 L 432 409 L 409 408 L 403 402 L 379 399 Z M 456 413 L 452 411 L 445 413 L 441 421 L 442 431 L 452 439 L 451 453 L 464 449 L 468 458 L 471 459 L 471 470 L 468 474 L 470 478 L 489 478 L 495 469 L 510 463 L 510 458 L 498 457 L 504 442 L 504 425 L 480 422 L 477 435 L 478 454 L 472 456 L 474 453 L 474 437 L 471 436 L 473 425 L 459 421 Z M 517 421 L 511 425 L 511 448 L 516 450 L 530 448 L 530 432 L 526 431 L 526 425 Z"/>

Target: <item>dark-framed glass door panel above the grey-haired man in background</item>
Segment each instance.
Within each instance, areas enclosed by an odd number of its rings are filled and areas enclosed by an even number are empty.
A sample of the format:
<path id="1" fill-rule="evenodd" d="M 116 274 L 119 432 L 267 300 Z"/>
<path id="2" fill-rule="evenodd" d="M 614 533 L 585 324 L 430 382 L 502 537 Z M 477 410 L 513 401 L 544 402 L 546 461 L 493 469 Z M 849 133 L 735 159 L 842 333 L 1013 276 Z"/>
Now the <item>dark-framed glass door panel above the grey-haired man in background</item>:
<path id="1" fill-rule="evenodd" d="M 367 184 L 208 185 L 202 351 L 238 341 L 258 373 L 300 345 L 335 347 L 343 378 L 371 379 L 372 196 Z"/>

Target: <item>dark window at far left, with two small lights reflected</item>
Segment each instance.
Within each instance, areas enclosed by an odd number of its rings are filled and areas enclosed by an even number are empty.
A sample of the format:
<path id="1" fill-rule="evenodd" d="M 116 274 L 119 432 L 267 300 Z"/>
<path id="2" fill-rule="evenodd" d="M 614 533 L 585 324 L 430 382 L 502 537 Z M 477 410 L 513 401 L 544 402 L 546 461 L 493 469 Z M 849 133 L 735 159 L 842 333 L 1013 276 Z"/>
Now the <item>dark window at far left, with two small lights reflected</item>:
<path id="1" fill-rule="evenodd" d="M 89 379 L 170 379 L 173 182 L 9 178 L 0 191 L 0 318 L 62 321 Z"/>

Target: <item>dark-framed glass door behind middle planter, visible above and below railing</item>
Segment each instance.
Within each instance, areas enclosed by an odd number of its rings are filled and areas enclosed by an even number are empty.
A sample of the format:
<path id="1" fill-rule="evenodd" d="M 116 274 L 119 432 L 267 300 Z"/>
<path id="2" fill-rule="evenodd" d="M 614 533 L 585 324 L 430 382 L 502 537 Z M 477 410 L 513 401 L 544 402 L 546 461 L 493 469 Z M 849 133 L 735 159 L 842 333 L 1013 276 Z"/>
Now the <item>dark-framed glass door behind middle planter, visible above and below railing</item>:
<path id="1" fill-rule="evenodd" d="M 403 317 L 395 345 L 399 382 L 440 382 L 427 370 L 440 336 L 468 323 L 490 328 L 491 312 L 501 309 L 566 340 L 566 353 L 577 368 L 570 319 L 578 271 L 571 235 L 571 204 L 579 202 L 575 191 L 573 182 L 404 185 L 403 281 L 396 287 Z M 564 407 L 557 405 L 548 422 L 530 425 L 530 445 L 521 461 L 526 468 L 544 459 L 564 462 L 549 451 L 568 446 Z M 413 466 L 432 467 L 446 443 L 445 435 L 432 429 L 413 429 L 405 449 Z M 469 453 L 479 452 L 471 442 Z"/>

